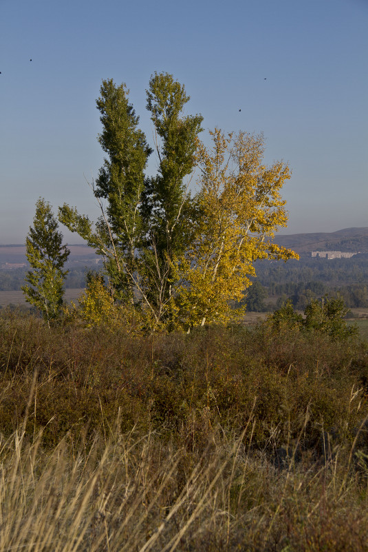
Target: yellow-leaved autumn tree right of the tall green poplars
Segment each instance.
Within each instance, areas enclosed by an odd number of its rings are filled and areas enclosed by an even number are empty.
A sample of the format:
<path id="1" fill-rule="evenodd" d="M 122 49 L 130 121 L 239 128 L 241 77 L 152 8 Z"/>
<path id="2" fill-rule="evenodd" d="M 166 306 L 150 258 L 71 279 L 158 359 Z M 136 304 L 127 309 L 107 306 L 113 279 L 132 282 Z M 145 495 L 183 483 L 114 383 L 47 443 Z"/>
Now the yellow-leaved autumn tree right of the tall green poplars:
<path id="1" fill-rule="evenodd" d="M 233 318 L 229 301 L 241 300 L 249 276 L 255 276 L 255 260 L 298 258 L 272 241 L 288 220 L 280 194 L 290 178 L 288 165 L 262 164 L 262 134 L 225 136 L 219 129 L 210 134 L 212 148 L 198 145 L 201 216 L 191 247 L 179 261 L 185 285 L 177 303 L 188 326 Z"/>

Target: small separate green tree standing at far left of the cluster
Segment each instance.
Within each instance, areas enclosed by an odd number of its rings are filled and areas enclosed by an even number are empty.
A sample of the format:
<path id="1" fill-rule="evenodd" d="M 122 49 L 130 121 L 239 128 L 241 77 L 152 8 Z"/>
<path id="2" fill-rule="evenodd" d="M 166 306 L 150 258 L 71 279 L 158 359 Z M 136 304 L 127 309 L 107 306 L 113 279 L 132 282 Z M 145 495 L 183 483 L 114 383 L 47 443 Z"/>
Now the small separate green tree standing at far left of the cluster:
<path id="1" fill-rule="evenodd" d="M 67 270 L 63 266 L 69 249 L 62 245 L 63 234 L 58 232 L 58 223 L 50 203 L 43 198 L 36 201 L 34 227 L 26 238 L 26 256 L 33 270 L 27 272 L 27 285 L 21 287 L 25 300 L 34 305 L 50 327 L 58 318 L 63 305 L 63 285 Z"/>

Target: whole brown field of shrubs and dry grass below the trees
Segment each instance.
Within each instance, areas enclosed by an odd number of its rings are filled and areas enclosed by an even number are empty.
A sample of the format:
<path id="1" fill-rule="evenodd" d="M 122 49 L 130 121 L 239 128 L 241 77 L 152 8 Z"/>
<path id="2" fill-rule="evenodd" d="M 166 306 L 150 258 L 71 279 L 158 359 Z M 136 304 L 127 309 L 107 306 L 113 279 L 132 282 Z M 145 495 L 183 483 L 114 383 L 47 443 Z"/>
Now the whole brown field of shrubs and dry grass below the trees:
<path id="1" fill-rule="evenodd" d="M 367 346 L 0 317 L 1 552 L 368 550 Z"/>

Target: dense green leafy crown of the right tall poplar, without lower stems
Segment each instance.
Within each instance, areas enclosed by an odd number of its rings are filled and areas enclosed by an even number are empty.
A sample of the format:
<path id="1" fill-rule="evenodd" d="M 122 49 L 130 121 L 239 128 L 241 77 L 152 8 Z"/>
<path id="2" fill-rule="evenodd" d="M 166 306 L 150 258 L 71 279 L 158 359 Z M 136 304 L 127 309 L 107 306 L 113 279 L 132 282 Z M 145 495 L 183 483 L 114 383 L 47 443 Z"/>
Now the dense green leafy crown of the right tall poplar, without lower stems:
<path id="1" fill-rule="evenodd" d="M 155 234 L 160 256 L 182 252 L 186 247 L 188 228 L 186 211 L 189 196 L 184 178 L 193 172 L 197 136 L 202 131 L 203 117 L 181 116 L 190 100 L 184 85 L 167 73 L 155 73 L 147 90 L 147 109 L 160 143 L 158 175 L 151 178 L 144 196 L 144 212 L 148 214 L 149 232 Z"/>

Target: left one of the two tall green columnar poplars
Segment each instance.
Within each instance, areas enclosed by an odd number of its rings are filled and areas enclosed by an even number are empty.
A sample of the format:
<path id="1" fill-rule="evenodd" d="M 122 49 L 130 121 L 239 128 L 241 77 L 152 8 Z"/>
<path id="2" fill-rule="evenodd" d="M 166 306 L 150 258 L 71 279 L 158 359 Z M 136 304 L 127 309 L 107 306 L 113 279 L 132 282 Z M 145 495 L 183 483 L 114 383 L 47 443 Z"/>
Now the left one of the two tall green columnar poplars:
<path id="1" fill-rule="evenodd" d="M 102 133 L 98 141 L 108 154 L 101 167 L 94 194 L 107 200 L 106 220 L 108 241 L 116 256 L 109 259 L 109 276 L 113 286 L 125 296 L 132 296 L 131 278 L 135 251 L 142 238 L 140 203 L 144 191 L 144 169 L 152 150 L 144 133 L 138 128 L 139 117 L 129 103 L 129 90 L 123 83 L 116 85 L 112 79 L 102 81 L 97 108 L 101 114 Z M 121 257 L 121 258 L 120 258 Z"/>

